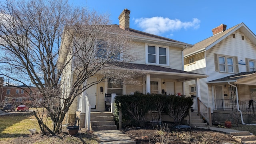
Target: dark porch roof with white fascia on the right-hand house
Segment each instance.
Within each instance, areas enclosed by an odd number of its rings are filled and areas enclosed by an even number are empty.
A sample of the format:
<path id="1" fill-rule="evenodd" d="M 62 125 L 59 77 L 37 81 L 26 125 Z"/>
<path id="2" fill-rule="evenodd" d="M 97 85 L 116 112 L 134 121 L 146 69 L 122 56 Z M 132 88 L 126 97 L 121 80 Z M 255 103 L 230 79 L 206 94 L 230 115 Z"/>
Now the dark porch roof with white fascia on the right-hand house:
<path id="1" fill-rule="evenodd" d="M 215 83 L 228 83 L 234 82 L 234 84 L 247 84 L 247 85 L 256 85 L 256 71 L 252 72 L 240 72 L 231 76 L 226 76 L 224 78 L 219 78 L 206 82 L 206 84 L 215 84 Z"/>

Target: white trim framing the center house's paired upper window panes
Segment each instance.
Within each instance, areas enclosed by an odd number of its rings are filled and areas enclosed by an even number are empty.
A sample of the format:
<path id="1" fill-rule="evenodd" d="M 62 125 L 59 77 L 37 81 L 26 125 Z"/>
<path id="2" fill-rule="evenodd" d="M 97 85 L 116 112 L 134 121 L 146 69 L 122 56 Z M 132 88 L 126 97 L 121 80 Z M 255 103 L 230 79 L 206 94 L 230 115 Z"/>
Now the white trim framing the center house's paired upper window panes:
<path id="1" fill-rule="evenodd" d="M 156 63 L 148 62 L 148 46 L 154 46 L 156 48 Z M 160 64 L 159 63 L 159 56 L 162 56 L 159 54 L 159 47 L 160 48 L 166 48 L 166 64 Z M 156 64 L 160 66 L 170 66 L 170 53 L 169 53 L 169 46 L 161 46 L 161 45 L 155 45 L 155 44 L 145 44 L 145 62 L 146 64 Z"/>

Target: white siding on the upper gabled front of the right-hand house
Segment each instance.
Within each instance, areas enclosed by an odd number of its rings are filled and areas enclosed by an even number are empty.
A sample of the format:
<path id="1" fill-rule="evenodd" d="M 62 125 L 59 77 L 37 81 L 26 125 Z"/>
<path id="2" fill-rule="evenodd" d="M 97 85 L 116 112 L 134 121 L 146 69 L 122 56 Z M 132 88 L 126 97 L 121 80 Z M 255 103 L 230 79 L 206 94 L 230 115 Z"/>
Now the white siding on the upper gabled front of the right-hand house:
<path id="1" fill-rule="evenodd" d="M 232 34 L 230 34 L 230 36 L 227 36 L 224 40 L 206 51 L 206 74 L 209 76 L 207 78 L 208 81 L 234 74 L 216 72 L 214 66 L 214 54 L 238 56 L 238 61 L 245 61 L 245 58 L 255 58 L 256 46 L 252 44 L 252 42 L 250 42 L 250 40 L 248 40 L 248 38 L 244 36 L 240 30 L 237 30 L 233 34 L 236 35 L 236 38 L 233 38 Z M 244 36 L 244 40 L 241 38 L 242 35 Z M 246 72 L 245 65 L 238 64 L 238 67 L 239 72 Z"/>

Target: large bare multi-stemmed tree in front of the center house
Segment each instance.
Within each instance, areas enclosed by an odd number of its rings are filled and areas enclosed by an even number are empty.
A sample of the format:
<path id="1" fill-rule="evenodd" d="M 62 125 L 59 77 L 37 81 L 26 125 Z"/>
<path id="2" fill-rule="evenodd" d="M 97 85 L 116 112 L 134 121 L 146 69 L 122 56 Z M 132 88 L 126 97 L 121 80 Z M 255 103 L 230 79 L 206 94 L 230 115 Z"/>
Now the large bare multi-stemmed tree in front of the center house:
<path id="1" fill-rule="evenodd" d="M 44 112 L 34 113 L 44 133 L 58 133 L 76 96 L 106 78 L 120 80 L 111 68 L 134 58 L 131 39 L 108 25 L 108 16 L 66 0 L 7 0 L 0 8 L 0 75 L 38 88 L 53 124 L 46 125 Z"/>

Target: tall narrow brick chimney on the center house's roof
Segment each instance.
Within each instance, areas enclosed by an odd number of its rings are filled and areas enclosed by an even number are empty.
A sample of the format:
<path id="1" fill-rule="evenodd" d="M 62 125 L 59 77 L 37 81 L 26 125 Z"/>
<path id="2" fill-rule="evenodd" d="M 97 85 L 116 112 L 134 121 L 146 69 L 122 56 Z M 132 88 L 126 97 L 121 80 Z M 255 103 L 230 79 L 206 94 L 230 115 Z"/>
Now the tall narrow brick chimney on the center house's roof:
<path id="1" fill-rule="evenodd" d="M 127 8 L 122 11 L 120 16 L 118 17 L 119 19 L 119 27 L 122 28 L 123 30 L 128 30 L 130 28 L 130 10 Z"/>

